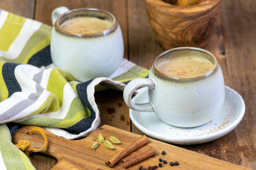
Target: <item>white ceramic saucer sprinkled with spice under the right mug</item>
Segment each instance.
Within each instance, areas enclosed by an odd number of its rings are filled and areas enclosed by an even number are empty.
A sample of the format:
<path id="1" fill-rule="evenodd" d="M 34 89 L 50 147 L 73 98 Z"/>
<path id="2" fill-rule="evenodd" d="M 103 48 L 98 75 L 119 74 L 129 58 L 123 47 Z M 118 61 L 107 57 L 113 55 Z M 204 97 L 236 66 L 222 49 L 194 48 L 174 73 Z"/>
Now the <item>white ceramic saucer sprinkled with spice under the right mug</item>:
<path id="1" fill-rule="evenodd" d="M 132 101 L 148 102 L 147 88 Z M 225 86 L 225 101 L 220 113 L 211 121 L 195 128 L 178 128 L 161 121 L 154 113 L 130 109 L 130 118 L 141 132 L 149 137 L 172 144 L 201 144 L 218 139 L 233 130 L 242 120 L 245 104 L 242 97 Z"/>

